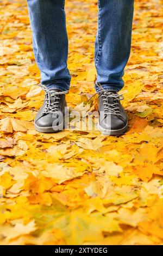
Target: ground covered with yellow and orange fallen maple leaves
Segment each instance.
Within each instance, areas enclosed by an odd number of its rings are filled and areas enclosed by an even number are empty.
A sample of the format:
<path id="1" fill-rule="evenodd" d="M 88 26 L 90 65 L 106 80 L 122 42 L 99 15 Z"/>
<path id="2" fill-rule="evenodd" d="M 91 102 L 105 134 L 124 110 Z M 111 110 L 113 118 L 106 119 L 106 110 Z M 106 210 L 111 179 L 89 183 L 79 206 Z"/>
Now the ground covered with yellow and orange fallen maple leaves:
<path id="1" fill-rule="evenodd" d="M 123 105 L 129 131 L 34 130 L 35 86 L 25 0 L 1 0 L 0 245 L 159 245 L 163 241 L 161 1 L 135 1 Z M 97 0 L 67 0 L 70 111 L 97 110 Z M 97 121 L 97 117 L 93 119 Z"/>

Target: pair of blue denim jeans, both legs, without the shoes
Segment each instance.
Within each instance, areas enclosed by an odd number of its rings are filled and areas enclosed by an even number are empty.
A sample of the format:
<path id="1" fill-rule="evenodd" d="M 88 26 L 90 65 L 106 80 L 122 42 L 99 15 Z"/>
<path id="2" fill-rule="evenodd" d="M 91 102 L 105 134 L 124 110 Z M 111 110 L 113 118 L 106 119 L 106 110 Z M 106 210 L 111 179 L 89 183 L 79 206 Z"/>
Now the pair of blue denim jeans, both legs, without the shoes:
<path id="1" fill-rule="evenodd" d="M 97 82 L 118 92 L 131 47 L 134 0 L 97 0 L 98 31 L 95 42 Z M 41 83 L 48 88 L 68 90 L 68 38 L 65 0 L 27 0 L 33 48 Z M 95 84 L 95 89 L 98 91 Z"/>

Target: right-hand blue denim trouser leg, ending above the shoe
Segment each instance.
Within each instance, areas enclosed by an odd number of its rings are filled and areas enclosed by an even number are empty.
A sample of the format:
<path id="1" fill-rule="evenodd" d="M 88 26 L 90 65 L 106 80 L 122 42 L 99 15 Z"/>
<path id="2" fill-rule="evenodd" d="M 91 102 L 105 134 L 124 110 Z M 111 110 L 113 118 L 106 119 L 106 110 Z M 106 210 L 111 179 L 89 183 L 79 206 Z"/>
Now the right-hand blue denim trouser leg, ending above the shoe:
<path id="1" fill-rule="evenodd" d="M 134 0 L 98 0 L 98 8 L 97 82 L 118 92 L 124 85 L 122 76 L 130 54 Z M 96 84 L 95 88 L 98 92 Z"/>

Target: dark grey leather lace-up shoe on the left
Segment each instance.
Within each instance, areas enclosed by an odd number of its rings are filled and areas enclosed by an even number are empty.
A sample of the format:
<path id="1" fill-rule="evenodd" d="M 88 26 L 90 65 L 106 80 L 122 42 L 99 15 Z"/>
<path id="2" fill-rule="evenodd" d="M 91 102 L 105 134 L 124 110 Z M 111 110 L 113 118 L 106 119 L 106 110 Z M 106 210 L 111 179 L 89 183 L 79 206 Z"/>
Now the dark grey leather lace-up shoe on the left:
<path id="1" fill-rule="evenodd" d="M 44 86 L 41 87 L 45 90 L 45 100 L 36 114 L 35 129 L 45 133 L 61 131 L 65 127 L 65 117 L 68 114 L 65 99 L 65 94 L 68 91 L 61 92 L 57 89 L 49 90 Z"/>

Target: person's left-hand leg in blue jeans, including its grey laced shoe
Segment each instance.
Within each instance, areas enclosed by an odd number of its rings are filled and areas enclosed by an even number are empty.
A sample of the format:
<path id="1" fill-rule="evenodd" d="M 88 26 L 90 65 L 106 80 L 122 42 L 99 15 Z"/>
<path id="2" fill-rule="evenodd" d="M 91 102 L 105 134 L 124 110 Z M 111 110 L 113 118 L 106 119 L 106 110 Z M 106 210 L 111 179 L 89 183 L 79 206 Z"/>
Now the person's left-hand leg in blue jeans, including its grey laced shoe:
<path id="1" fill-rule="evenodd" d="M 67 69 L 65 0 L 27 2 L 35 60 L 41 71 L 41 87 L 45 90 L 45 100 L 35 117 L 35 129 L 39 132 L 57 132 L 65 126 L 65 93 L 71 81 Z"/>

